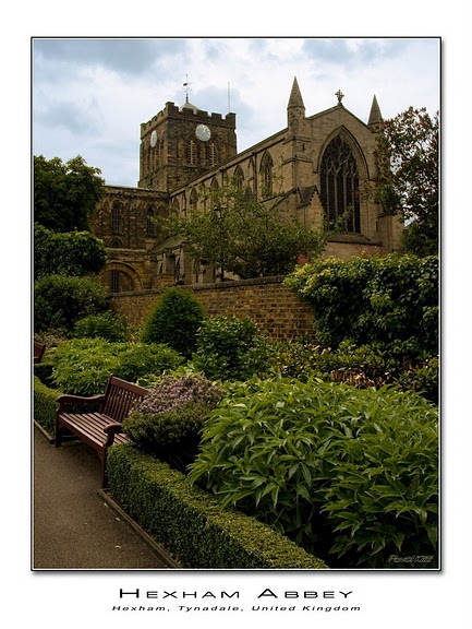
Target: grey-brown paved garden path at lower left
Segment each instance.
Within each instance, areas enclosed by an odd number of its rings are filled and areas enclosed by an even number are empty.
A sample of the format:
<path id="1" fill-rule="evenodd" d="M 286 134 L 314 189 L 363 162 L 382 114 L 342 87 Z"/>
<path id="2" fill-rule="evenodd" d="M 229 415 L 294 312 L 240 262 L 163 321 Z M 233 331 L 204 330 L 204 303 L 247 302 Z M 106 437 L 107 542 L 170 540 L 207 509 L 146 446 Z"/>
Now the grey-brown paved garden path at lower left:
<path id="1" fill-rule="evenodd" d="M 100 497 L 100 464 L 90 448 L 57 449 L 35 428 L 33 463 L 33 570 L 167 567 Z"/>

